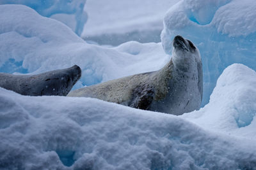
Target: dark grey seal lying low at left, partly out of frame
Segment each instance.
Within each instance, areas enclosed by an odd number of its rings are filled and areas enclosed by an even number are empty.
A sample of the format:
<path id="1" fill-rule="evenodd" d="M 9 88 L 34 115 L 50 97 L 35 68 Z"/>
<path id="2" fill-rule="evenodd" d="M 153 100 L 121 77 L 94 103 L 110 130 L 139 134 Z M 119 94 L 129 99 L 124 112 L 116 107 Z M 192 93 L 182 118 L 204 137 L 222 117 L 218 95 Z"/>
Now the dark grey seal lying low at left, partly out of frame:
<path id="1" fill-rule="evenodd" d="M 36 75 L 0 73 L 0 87 L 26 96 L 67 96 L 80 77 L 76 65 Z"/>

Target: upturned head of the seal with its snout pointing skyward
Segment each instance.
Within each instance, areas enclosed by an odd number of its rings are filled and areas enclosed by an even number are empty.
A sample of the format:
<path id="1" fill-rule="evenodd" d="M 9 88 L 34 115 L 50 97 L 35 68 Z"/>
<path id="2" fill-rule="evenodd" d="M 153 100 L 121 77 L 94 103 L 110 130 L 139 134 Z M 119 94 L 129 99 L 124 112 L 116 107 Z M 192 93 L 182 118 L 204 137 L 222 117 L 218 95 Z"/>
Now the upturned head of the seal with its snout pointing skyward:
<path id="1" fill-rule="evenodd" d="M 182 36 L 175 36 L 172 51 L 173 63 L 186 66 L 186 62 L 190 62 L 191 59 L 198 62 L 201 60 L 198 48 L 188 39 L 184 39 Z"/>

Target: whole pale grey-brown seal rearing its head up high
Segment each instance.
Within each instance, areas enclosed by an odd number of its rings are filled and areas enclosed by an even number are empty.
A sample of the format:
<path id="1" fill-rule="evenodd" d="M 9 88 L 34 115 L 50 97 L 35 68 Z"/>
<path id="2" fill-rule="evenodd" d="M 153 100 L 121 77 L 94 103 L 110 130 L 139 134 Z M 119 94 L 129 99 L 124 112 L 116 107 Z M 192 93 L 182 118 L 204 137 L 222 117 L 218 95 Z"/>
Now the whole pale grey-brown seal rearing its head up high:
<path id="1" fill-rule="evenodd" d="M 173 40 L 172 59 L 158 71 L 135 74 L 74 90 L 73 97 L 181 115 L 198 110 L 202 101 L 202 62 L 198 49 L 181 36 Z"/>

